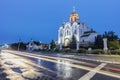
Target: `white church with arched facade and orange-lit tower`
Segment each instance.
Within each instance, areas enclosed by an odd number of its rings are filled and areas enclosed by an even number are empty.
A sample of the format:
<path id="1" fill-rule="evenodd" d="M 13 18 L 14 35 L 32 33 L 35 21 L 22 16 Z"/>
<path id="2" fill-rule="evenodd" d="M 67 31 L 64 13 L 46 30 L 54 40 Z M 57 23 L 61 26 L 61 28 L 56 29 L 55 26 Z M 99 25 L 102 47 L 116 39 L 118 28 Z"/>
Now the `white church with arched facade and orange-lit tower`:
<path id="1" fill-rule="evenodd" d="M 63 22 L 58 30 L 58 44 L 69 46 L 74 36 L 79 46 L 94 45 L 98 33 L 80 21 L 78 13 L 73 8 L 69 22 Z"/>

